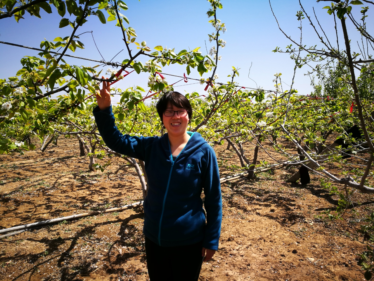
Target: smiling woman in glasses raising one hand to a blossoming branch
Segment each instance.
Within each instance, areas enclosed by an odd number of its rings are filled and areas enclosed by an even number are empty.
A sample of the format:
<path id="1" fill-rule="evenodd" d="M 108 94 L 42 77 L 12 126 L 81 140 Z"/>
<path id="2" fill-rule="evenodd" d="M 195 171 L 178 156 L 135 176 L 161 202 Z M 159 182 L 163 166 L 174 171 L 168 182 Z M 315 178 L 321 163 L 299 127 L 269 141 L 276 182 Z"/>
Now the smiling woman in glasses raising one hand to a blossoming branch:
<path id="1" fill-rule="evenodd" d="M 96 100 L 93 115 L 106 145 L 145 162 L 143 233 L 150 280 L 197 280 L 202 262 L 218 249 L 222 200 L 214 150 L 199 133 L 187 132 L 190 102 L 178 92 L 166 93 L 156 108 L 168 132 L 137 137 L 117 130 L 109 82 L 103 81 Z"/>

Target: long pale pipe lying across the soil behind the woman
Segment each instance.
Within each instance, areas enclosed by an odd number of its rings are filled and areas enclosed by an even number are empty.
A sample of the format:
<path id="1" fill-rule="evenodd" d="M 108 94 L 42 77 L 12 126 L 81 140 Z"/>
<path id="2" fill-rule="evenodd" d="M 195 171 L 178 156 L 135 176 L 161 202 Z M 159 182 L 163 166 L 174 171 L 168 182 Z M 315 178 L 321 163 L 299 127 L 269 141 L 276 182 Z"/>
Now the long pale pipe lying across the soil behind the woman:
<path id="1" fill-rule="evenodd" d="M 275 166 L 279 166 L 279 165 L 282 165 L 282 164 L 283 163 L 277 164 Z M 254 170 L 254 172 L 264 172 L 266 170 L 272 169 L 275 166 L 264 168 L 264 169 L 261 169 L 261 170 Z M 243 172 L 243 173 L 239 173 L 239 174 L 236 174 L 236 175 L 226 176 L 224 178 L 220 178 L 220 183 L 222 184 L 226 181 L 232 181 L 234 179 L 243 178 L 246 175 L 248 175 L 248 172 Z M 111 208 L 111 209 L 106 209 L 106 210 L 102 210 L 102 211 L 95 211 L 95 212 L 90 212 L 90 213 L 71 215 L 71 216 L 68 216 L 68 217 L 54 218 L 52 220 L 39 221 L 37 223 L 29 223 L 29 224 L 24 224 L 22 226 L 15 226 L 15 227 L 10 227 L 10 228 L 6 228 L 6 229 L 0 229 L 0 234 L 1 233 L 7 233 L 7 234 L 4 234 L 4 235 L 1 235 L 0 239 L 7 238 L 9 236 L 18 235 L 18 234 L 21 234 L 25 231 L 37 229 L 39 227 L 46 226 L 48 224 L 59 223 L 61 221 L 76 220 L 77 218 L 106 214 L 106 213 L 110 213 L 110 212 L 120 212 L 120 211 L 125 211 L 127 209 L 133 209 L 133 208 L 134 209 L 139 208 L 139 207 L 143 206 L 143 202 L 144 201 L 140 201 L 140 202 L 133 203 L 133 204 L 130 204 L 130 205 L 125 205 L 125 206 L 122 206 L 122 207 L 119 207 L 119 208 Z M 8 233 L 8 232 L 10 232 L 10 233 Z"/>

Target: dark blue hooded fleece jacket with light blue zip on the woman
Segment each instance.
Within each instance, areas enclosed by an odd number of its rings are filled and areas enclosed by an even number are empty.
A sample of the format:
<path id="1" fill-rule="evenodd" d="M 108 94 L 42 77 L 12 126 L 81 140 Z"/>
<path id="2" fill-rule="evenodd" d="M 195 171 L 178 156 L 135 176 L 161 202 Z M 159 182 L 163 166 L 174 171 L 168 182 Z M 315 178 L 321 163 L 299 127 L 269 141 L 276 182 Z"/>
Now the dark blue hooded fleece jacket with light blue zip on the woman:
<path id="1" fill-rule="evenodd" d="M 145 163 L 148 195 L 143 204 L 144 235 L 164 247 L 203 240 L 203 247 L 217 250 L 222 221 L 220 176 L 214 150 L 202 136 L 188 132 L 191 138 L 173 160 L 168 134 L 122 135 L 114 124 L 111 107 L 102 111 L 96 107 L 93 115 L 110 149 Z"/>

